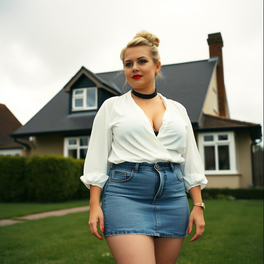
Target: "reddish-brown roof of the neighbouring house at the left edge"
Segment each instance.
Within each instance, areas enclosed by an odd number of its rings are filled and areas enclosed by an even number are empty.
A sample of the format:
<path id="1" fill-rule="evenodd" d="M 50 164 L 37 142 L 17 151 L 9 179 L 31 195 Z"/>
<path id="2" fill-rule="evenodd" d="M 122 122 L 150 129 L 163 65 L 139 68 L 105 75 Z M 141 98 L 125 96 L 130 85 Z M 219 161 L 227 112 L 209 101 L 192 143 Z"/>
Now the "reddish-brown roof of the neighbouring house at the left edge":
<path id="1" fill-rule="evenodd" d="M 23 146 L 14 141 L 10 136 L 11 133 L 16 131 L 22 124 L 6 107 L 0 103 L 0 149 L 22 149 Z"/>

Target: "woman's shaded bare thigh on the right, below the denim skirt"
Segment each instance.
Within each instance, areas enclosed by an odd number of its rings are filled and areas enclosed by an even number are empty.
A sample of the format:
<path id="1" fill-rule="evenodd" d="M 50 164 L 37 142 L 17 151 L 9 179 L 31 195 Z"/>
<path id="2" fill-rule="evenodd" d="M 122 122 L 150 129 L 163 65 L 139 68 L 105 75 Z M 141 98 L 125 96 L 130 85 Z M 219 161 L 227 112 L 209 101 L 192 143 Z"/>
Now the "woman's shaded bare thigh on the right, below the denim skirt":
<path id="1" fill-rule="evenodd" d="M 154 240 L 156 264 L 175 264 L 185 237 L 159 237 Z"/>

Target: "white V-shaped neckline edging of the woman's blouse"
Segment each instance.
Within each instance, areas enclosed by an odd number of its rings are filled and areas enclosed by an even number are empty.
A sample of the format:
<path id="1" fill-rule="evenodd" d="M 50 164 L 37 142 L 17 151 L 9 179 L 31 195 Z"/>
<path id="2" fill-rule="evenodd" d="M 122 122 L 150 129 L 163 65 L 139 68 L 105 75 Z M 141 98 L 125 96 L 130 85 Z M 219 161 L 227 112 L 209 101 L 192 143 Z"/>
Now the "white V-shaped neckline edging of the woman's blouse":
<path id="1" fill-rule="evenodd" d="M 163 117 L 162 117 L 162 125 L 159 128 L 158 135 L 156 136 L 155 135 L 155 132 L 154 132 L 154 130 L 152 128 L 152 125 L 151 125 L 151 123 L 150 123 L 150 121 L 149 121 L 149 119 L 147 117 L 147 115 L 145 114 L 145 112 L 143 111 L 143 109 L 135 102 L 135 100 L 133 99 L 133 97 L 131 95 L 131 91 L 132 90 L 128 91 L 128 93 L 127 93 L 128 94 L 128 97 L 129 97 L 130 101 L 133 103 L 133 105 L 136 107 L 136 109 L 139 111 L 139 113 L 142 115 L 142 117 L 143 117 L 143 119 L 144 119 L 144 121 L 145 121 L 145 123 L 147 125 L 147 128 L 152 133 L 152 135 L 155 136 L 155 138 L 160 137 L 162 135 L 162 133 L 164 132 L 164 130 L 165 130 L 167 124 L 168 124 L 168 120 L 169 120 L 168 119 L 169 104 L 168 104 L 168 102 L 166 100 L 166 97 L 162 96 L 160 93 L 157 93 L 161 97 L 161 100 L 163 101 L 164 105 L 166 104 L 165 105 L 166 110 L 165 110 L 165 112 L 163 114 Z"/>

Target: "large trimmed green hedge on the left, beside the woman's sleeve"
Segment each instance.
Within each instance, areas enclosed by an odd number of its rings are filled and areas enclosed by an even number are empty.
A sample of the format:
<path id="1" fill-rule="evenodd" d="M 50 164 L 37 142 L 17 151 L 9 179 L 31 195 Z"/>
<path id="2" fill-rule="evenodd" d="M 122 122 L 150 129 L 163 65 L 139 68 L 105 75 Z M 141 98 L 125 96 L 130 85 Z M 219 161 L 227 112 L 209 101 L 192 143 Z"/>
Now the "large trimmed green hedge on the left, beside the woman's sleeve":
<path id="1" fill-rule="evenodd" d="M 84 159 L 62 155 L 0 156 L 1 202 L 59 202 L 89 199 L 80 180 Z"/>

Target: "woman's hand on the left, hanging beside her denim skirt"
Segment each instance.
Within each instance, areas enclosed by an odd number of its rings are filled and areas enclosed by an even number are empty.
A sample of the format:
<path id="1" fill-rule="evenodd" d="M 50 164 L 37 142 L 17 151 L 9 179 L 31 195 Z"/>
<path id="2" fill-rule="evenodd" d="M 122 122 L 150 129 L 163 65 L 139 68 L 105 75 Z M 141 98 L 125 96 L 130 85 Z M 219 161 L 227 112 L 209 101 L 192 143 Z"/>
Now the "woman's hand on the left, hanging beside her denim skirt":
<path id="1" fill-rule="evenodd" d="M 103 231 L 104 228 L 104 217 L 103 217 L 103 210 L 98 205 L 90 205 L 90 216 L 89 216 L 89 226 L 91 229 L 91 233 L 95 235 L 100 240 L 103 240 L 103 235 L 97 232 L 97 223 L 99 222 L 100 230 Z"/>

